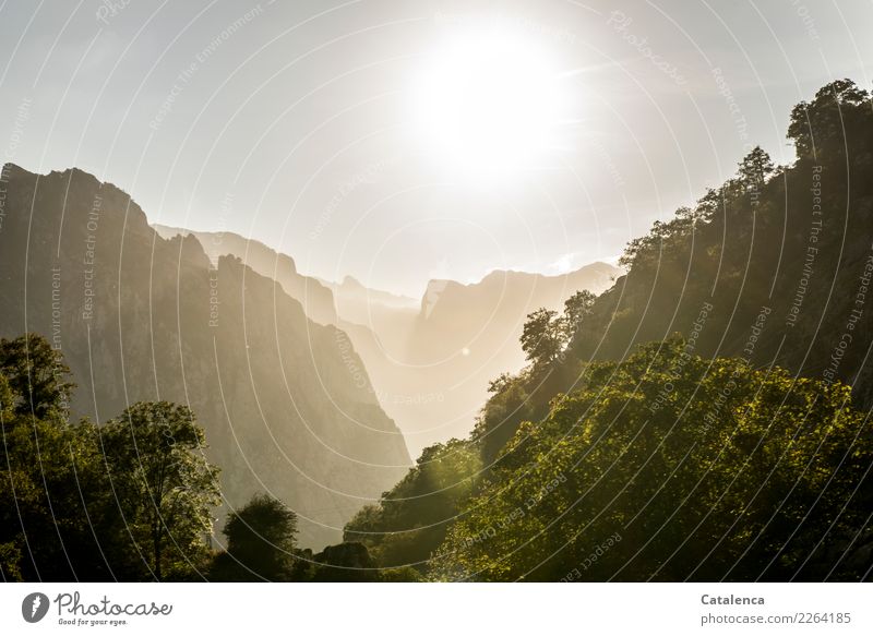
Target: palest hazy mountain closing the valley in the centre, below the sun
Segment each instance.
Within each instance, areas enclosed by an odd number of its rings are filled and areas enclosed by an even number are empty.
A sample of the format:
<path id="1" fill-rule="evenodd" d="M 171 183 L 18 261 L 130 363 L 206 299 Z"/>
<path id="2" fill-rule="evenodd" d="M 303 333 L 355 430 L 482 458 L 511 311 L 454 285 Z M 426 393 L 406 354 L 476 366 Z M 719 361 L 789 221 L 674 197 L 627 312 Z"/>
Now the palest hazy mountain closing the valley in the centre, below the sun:
<path id="1" fill-rule="evenodd" d="M 599 293 L 619 274 L 593 263 L 560 276 L 497 271 L 471 285 L 431 280 L 415 315 L 395 313 L 391 324 L 391 314 L 374 312 L 367 328 L 344 324 L 344 329 L 417 456 L 433 442 L 466 437 L 489 382 L 526 364 L 518 338 L 528 313 L 562 309 L 578 290 Z"/>

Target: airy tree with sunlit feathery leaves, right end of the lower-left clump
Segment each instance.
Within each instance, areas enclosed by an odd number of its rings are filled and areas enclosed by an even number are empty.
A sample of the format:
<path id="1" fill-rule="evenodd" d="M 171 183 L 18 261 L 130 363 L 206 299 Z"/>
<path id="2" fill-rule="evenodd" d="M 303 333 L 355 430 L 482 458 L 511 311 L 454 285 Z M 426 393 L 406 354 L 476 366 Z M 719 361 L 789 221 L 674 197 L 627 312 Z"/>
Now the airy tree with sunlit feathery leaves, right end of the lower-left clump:
<path id="1" fill-rule="evenodd" d="M 205 556 L 218 469 L 206 461 L 203 429 L 184 406 L 137 403 L 101 430 L 120 512 L 147 573 L 189 576 Z"/>

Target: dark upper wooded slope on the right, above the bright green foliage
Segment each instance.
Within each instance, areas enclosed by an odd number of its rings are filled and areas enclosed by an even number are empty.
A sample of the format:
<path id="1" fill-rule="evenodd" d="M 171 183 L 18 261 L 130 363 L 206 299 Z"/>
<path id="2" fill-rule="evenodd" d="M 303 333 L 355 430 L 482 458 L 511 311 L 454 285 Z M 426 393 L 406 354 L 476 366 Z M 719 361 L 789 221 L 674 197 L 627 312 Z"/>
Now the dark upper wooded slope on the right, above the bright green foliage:
<path id="1" fill-rule="evenodd" d="M 852 82 L 791 113 L 797 161 L 761 148 L 734 178 L 658 223 L 623 257 L 573 349 L 622 359 L 673 332 L 696 355 L 779 364 L 873 406 L 873 99 Z"/>

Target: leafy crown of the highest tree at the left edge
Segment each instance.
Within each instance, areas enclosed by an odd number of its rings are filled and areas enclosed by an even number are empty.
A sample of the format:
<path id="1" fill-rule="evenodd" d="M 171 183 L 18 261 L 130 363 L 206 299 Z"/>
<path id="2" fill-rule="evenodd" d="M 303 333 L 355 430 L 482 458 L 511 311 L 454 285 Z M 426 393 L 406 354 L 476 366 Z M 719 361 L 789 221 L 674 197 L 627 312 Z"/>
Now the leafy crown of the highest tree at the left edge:
<path id="1" fill-rule="evenodd" d="M 38 334 L 0 339 L 0 373 L 7 376 L 17 415 L 45 418 L 49 411 L 70 411 L 75 385 L 60 351 Z"/>

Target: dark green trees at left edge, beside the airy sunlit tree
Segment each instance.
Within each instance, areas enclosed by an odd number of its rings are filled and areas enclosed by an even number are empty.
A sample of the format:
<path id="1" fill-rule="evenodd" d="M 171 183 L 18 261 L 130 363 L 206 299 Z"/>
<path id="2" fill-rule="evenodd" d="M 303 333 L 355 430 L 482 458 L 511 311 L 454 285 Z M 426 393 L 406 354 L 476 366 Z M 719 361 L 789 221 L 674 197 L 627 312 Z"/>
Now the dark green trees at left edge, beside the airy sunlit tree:
<path id="1" fill-rule="evenodd" d="M 0 351 L 3 578 L 112 579 L 95 538 L 111 517 L 96 427 L 68 422 L 63 359 L 35 334 L 2 340 Z"/>

